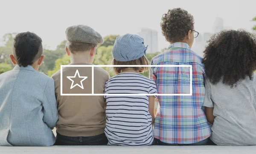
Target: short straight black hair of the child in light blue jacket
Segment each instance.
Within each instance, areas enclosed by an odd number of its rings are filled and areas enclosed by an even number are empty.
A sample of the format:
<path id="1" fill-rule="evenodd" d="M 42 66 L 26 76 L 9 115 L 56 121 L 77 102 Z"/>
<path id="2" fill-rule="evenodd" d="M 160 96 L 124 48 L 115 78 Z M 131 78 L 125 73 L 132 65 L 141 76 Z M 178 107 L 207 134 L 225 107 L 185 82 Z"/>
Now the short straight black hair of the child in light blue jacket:
<path id="1" fill-rule="evenodd" d="M 19 66 L 32 65 L 43 54 L 42 39 L 29 31 L 19 33 L 14 38 L 14 49 Z"/>

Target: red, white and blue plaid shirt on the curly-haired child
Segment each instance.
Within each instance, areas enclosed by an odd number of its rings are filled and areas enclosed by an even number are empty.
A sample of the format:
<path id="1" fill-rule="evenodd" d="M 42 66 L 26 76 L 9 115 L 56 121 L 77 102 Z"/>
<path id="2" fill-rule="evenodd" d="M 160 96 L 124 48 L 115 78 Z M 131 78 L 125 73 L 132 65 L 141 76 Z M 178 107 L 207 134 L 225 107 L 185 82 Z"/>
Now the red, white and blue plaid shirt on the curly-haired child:
<path id="1" fill-rule="evenodd" d="M 151 65 L 192 65 L 192 96 L 159 96 L 160 110 L 154 122 L 154 137 L 164 143 L 192 144 L 207 139 L 210 125 L 202 109 L 204 65 L 186 43 L 173 43 Z M 189 67 L 151 67 L 150 77 L 158 94 L 190 94 Z"/>

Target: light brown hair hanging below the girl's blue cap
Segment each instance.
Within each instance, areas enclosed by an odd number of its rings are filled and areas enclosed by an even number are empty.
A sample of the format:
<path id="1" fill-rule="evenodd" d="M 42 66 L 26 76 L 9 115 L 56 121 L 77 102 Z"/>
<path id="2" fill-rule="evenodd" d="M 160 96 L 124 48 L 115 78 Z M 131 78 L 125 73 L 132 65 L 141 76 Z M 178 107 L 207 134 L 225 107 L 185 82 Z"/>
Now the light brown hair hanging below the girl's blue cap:
<path id="1" fill-rule="evenodd" d="M 127 62 L 119 62 L 119 61 L 113 59 L 112 64 L 113 65 L 149 65 L 149 61 L 148 61 L 148 58 L 145 55 L 143 55 L 142 57 L 140 57 L 137 60 L 131 60 L 131 61 L 127 61 Z M 113 71 L 116 74 L 119 74 L 127 68 L 129 68 L 129 67 L 113 67 Z M 139 73 L 143 73 L 148 70 L 148 67 L 131 67 L 131 68 L 133 68 L 134 71 L 137 71 Z"/>

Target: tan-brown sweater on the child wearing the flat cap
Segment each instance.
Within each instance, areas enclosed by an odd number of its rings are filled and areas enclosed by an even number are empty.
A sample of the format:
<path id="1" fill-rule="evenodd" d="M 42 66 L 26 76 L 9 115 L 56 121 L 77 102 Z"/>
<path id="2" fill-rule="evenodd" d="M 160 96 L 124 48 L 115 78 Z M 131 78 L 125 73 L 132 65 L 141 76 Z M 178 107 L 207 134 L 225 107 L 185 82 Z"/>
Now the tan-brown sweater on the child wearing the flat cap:
<path id="1" fill-rule="evenodd" d="M 70 65 L 90 65 L 74 63 Z M 78 70 L 79 74 L 76 74 Z M 74 77 L 76 74 L 76 77 Z M 79 76 L 81 78 L 79 78 Z M 73 85 L 72 85 L 72 79 Z M 87 77 L 85 80 L 82 77 Z M 61 71 L 52 75 L 55 81 L 59 119 L 57 132 L 70 137 L 89 137 L 104 133 L 105 100 L 103 96 L 61 96 Z M 94 94 L 103 94 L 109 74 L 102 68 L 94 67 Z M 82 84 L 80 81 L 82 81 Z M 82 89 L 78 85 L 83 86 Z M 73 86 L 73 88 L 72 88 Z M 64 67 L 62 69 L 63 94 L 92 94 L 92 67 Z"/>

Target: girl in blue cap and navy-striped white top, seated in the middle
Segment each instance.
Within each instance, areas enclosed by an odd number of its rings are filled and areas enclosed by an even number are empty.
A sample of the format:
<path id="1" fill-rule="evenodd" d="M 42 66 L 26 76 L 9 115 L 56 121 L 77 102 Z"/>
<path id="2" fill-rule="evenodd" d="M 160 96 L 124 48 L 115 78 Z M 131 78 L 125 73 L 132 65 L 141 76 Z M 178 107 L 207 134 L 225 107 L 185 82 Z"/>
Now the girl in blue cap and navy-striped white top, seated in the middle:
<path id="1" fill-rule="evenodd" d="M 113 65 L 149 65 L 143 38 L 125 34 L 116 37 L 113 46 Z M 105 85 L 108 145 L 152 145 L 155 96 L 153 80 L 139 74 L 148 67 L 114 67 L 116 76 Z M 118 95 L 119 94 L 119 95 Z M 125 95 L 128 94 L 128 95 Z"/>

